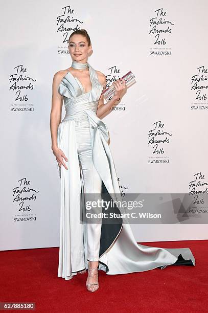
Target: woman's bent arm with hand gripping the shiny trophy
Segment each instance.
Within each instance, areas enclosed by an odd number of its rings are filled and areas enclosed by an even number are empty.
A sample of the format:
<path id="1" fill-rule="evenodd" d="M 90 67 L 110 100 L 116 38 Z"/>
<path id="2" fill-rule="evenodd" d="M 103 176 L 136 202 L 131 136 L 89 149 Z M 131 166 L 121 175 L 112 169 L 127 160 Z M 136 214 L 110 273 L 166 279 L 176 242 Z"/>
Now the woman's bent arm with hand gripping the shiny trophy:
<path id="1" fill-rule="evenodd" d="M 122 78 L 121 78 L 122 79 Z M 104 104 L 104 96 L 103 93 L 101 94 L 99 103 L 98 103 L 98 109 L 97 109 L 97 116 L 100 118 L 104 113 L 106 113 L 118 100 L 120 100 L 121 93 L 126 88 L 126 82 L 124 79 L 122 79 L 123 83 L 121 83 L 120 79 L 117 79 L 113 82 L 113 85 L 115 87 L 115 92 L 112 97 L 112 99 L 108 100 Z M 102 82 L 104 82 L 103 90 L 106 86 L 106 77 L 104 74 L 102 74 Z"/>

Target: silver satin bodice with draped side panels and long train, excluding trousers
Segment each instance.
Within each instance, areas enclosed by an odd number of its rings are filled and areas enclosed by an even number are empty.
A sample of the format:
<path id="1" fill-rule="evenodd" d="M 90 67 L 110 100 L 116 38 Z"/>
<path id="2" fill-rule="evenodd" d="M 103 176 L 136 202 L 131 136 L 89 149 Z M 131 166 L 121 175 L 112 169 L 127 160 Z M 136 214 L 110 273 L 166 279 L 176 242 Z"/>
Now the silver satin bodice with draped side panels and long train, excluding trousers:
<path id="1" fill-rule="evenodd" d="M 59 167 L 56 161 L 61 178 L 58 277 L 65 280 L 88 268 L 86 225 L 80 223 L 80 194 L 84 193 L 76 141 L 76 126 L 80 123 L 89 127 L 93 163 L 102 179 L 102 190 L 105 189 L 113 200 L 122 201 L 108 145 L 108 128 L 96 115 L 103 86 L 89 63 L 88 68 L 92 84 L 90 92 L 85 93 L 79 79 L 70 72 L 62 78 L 58 87 L 66 114 L 58 126 L 57 143 L 68 159 L 67 163 L 64 161 L 68 170 Z M 195 258 L 189 248 L 167 249 L 138 244 L 125 218 L 117 225 L 102 223 L 99 270 L 113 275 L 143 272 L 167 265 L 195 265 Z"/>

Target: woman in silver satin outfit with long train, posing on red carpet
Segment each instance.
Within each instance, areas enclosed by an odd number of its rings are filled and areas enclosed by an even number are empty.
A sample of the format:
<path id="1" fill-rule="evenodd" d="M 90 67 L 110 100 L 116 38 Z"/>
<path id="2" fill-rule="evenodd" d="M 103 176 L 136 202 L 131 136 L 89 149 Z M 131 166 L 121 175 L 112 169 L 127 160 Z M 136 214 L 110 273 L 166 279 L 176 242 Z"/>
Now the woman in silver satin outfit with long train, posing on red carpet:
<path id="1" fill-rule="evenodd" d="M 112 200 L 122 201 L 108 129 L 100 117 L 117 103 L 126 85 L 124 80 L 113 82 L 114 95 L 104 104 L 106 77 L 87 62 L 92 47 L 85 30 L 71 34 L 68 50 L 72 66 L 54 75 L 51 110 L 52 150 L 61 178 L 58 277 L 68 280 L 88 269 L 87 290 L 95 292 L 98 270 L 113 275 L 171 264 L 195 265 L 189 248 L 137 244 L 126 218 L 115 225 L 104 223 L 103 218 L 97 223 L 80 222 L 80 213 L 85 212 L 83 195 L 97 194 L 102 199 L 105 188 Z M 63 101 L 66 114 L 61 121 Z M 125 213 L 122 208 L 112 210 Z"/>

